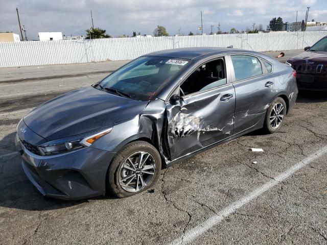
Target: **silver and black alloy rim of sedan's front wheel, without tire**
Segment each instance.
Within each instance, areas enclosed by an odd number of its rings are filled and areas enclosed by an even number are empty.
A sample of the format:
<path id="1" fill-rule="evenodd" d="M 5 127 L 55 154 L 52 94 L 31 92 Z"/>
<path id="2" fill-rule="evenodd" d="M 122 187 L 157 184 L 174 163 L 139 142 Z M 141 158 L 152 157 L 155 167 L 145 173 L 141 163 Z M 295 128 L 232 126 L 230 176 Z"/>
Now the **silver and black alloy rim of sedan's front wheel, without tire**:
<path id="1" fill-rule="evenodd" d="M 144 151 L 130 155 L 119 170 L 119 183 L 128 192 L 136 192 L 145 188 L 155 173 L 153 156 Z"/>

